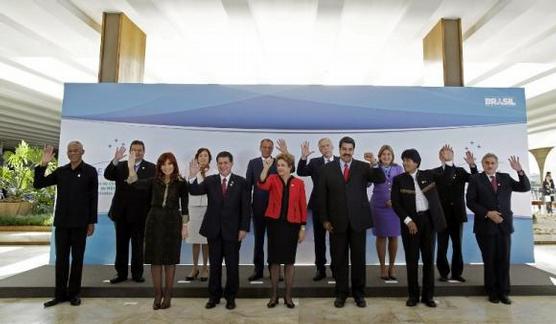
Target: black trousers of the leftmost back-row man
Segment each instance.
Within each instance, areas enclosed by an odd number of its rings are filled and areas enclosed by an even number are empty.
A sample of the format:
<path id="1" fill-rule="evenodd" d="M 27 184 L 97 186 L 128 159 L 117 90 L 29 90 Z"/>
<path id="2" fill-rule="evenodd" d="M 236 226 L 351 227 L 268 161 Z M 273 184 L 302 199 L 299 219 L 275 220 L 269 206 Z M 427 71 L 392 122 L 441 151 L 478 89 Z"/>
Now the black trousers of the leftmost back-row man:
<path id="1" fill-rule="evenodd" d="M 127 278 L 129 264 L 129 243 L 131 241 L 131 276 L 143 277 L 143 241 L 145 221 L 130 222 L 118 219 L 114 222 L 116 229 L 116 261 L 114 267 L 118 277 Z"/>

